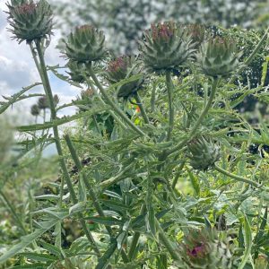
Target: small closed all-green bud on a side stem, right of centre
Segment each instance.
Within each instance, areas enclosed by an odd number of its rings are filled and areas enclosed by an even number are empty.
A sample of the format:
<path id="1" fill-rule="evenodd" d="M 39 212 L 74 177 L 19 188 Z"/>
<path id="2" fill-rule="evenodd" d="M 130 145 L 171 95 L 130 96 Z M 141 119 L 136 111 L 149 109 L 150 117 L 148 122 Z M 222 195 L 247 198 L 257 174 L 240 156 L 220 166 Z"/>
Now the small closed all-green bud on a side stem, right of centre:
<path id="1" fill-rule="evenodd" d="M 187 144 L 191 153 L 190 164 L 194 169 L 208 169 L 220 159 L 220 148 L 211 138 L 195 138 Z"/>

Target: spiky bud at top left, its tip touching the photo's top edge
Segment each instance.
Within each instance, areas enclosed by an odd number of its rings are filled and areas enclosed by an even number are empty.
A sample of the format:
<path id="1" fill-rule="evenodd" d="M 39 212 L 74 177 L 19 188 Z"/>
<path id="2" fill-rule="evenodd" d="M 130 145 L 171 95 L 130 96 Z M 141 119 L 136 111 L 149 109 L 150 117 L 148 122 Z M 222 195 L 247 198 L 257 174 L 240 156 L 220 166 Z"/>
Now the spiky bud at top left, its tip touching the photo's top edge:
<path id="1" fill-rule="evenodd" d="M 13 0 L 7 4 L 8 22 L 14 38 L 21 43 L 30 43 L 34 39 L 42 39 L 52 33 L 52 10 L 46 0 L 34 3 L 33 0 Z"/>

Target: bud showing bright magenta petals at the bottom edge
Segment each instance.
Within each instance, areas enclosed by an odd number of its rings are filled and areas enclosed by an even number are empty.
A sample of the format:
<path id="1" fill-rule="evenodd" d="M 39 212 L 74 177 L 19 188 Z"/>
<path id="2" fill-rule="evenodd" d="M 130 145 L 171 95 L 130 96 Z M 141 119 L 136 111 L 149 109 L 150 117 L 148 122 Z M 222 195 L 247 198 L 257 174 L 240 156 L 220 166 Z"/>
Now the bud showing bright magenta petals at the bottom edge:
<path id="1" fill-rule="evenodd" d="M 180 244 L 179 254 L 182 258 L 179 268 L 230 269 L 234 265 L 227 231 L 218 233 L 211 228 L 191 230 Z"/>

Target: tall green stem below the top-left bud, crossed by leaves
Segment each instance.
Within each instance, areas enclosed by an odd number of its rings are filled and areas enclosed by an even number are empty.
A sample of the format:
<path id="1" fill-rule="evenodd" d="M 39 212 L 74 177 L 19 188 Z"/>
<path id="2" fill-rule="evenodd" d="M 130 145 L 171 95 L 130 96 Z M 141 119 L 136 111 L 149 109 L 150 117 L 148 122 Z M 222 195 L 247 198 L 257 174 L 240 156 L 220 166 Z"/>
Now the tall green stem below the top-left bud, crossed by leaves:
<path id="1" fill-rule="evenodd" d="M 48 80 L 48 73 L 47 73 L 47 68 L 46 68 L 46 64 L 45 64 L 44 54 L 43 54 L 41 44 L 40 44 L 40 39 L 36 40 L 35 43 L 36 43 L 36 48 L 37 48 L 38 56 L 39 56 L 39 67 L 37 66 L 37 68 L 38 68 L 38 71 L 40 74 L 41 81 L 43 83 L 44 90 L 46 92 L 46 96 L 48 98 L 48 104 L 49 104 L 49 108 L 50 108 L 50 117 L 52 120 L 55 120 L 56 119 L 56 108 L 55 108 L 55 104 L 54 104 L 54 100 L 53 100 L 53 94 L 51 91 L 50 83 Z M 55 143 L 56 143 L 56 150 L 57 150 L 57 153 L 59 156 L 59 164 L 60 164 L 60 167 L 62 169 L 62 173 L 63 173 L 63 176 L 65 178 L 65 182 L 66 182 L 66 185 L 68 187 L 72 203 L 77 204 L 78 200 L 76 198 L 76 195 L 74 192 L 74 187 L 73 187 L 71 178 L 69 177 L 68 170 L 67 170 L 67 167 L 65 164 L 64 154 L 63 154 L 62 146 L 60 143 L 60 137 L 59 137 L 59 132 L 58 132 L 57 126 L 53 126 L 53 133 L 54 133 L 54 139 L 55 139 Z M 91 231 L 87 229 L 86 223 L 82 219 L 82 214 L 79 214 L 79 217 L 80 217 L 80 221 L 82 224 L 82 229 L 83 229 L 87 239 L 89 239 L 91 246 L 93 247 L 96 254 L 98 256 L 100 256 L 100 250 L 97 247 L 97 245 L 96 245 L 96 243 L 91 235 Z"/>

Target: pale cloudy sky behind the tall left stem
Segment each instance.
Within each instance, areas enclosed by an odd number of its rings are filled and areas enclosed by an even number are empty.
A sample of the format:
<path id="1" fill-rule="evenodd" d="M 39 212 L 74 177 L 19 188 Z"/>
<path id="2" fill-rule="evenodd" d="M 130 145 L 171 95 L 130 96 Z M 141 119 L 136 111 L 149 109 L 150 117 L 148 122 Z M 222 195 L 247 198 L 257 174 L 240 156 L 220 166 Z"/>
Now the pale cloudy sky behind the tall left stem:
<path id="1" fill-rule="evenodd" d="M 34 65 L 34 61 L 30 54 L 30 48 L 25 42 L 20 45 L 15 39 L 12 39 L 12 33 L 6 28 L 7 14 L 4 11 L 6 8 L 6 0 L 0 0 L 0 100 L 2 96 L 11 96 L 17 91 L 21 91 L 22 87 L 29 86 L 34 82 L 40 82 L 39 74 Z M 61 52 L 56 49 L 60 33 L 54 30 L 54 36 L 51 38 L 51 43 L 46 50 L 47 65 L 65 65 L 65 59 Z M 56 78 L 53 74 L 49 74 L 52 91 L 60 98 L 60 104 L 64 104 L 74 100 L 79 94 L 80 89 L 70 86 L 67 82 L 63 82 Z M 41 86 L 30 90 L 28 93 L 43 92 Z M 9 115 L 16 115 L 20 122 L 24 124 L 34 120 L 30 115 L 30 106 L 37 101 L 38 98 L 23 100 L 9 108 L 6 112 Z M 59 117 L 63 115 L 74 114 L 75 108 L 65 108 L 59 111 Z"/>

